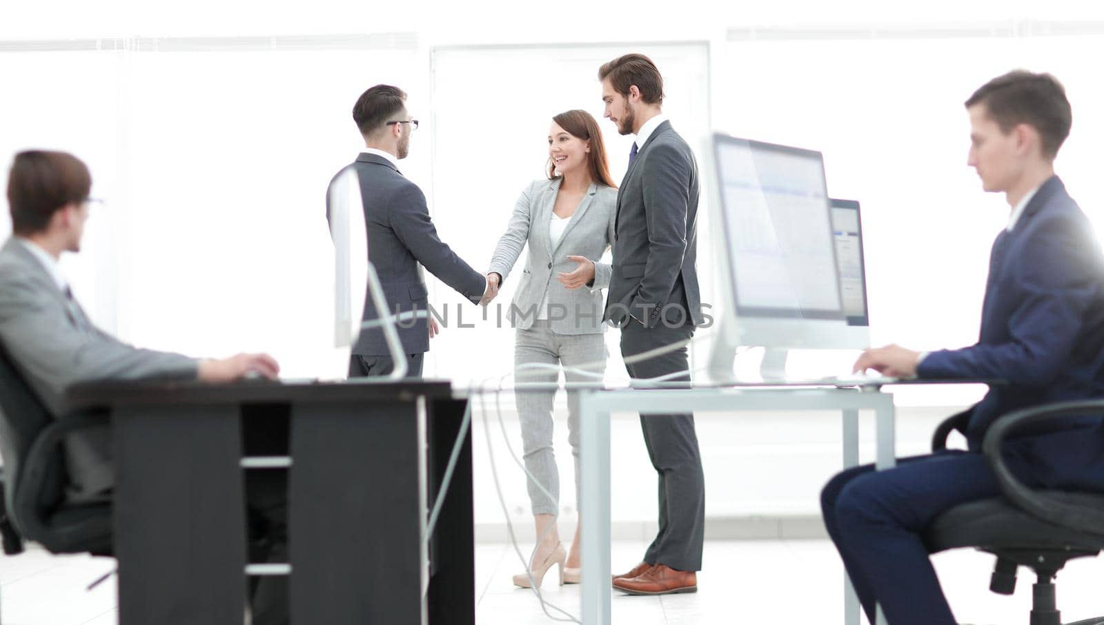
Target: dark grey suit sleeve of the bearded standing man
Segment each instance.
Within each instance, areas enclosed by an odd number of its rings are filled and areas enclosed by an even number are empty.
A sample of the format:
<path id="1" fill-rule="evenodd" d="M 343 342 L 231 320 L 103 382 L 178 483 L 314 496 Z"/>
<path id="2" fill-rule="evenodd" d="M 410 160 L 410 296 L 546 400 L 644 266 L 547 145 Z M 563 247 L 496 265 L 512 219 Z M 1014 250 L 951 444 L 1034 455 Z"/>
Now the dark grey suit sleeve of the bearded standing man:
<path id="1" fill-rule="evenodd" d="M 656 309 L 666 303 L 682 270 L 687 249 L 687 209 L 691 162 L 675 146 L 651 146 L 643 163 L 644 214 L 648 222 L 648 260 L 640 288 L 629 305 L 631 314 L 652 326 Z"/>

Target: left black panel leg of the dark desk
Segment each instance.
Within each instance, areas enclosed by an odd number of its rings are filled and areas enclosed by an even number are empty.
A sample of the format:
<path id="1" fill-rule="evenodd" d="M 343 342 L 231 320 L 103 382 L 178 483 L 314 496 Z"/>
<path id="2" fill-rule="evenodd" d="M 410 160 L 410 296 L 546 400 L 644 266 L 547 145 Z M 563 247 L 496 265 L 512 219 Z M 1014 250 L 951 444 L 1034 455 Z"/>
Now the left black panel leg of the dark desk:
<path id="1" fill-rule="evenodd" d="M 125 406 L 115 410 L 112 430 L 119 623 L 241 623 L 246 548 L 237 406 Z"/>

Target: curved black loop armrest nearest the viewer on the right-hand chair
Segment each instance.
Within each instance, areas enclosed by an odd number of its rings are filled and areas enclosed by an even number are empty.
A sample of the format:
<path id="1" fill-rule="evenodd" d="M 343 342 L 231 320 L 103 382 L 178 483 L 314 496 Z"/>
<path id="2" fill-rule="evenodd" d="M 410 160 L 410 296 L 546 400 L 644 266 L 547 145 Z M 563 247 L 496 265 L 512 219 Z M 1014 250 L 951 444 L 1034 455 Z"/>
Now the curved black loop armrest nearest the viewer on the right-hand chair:
<path id="1" fill-rule="evenodd" d="M 1104 418 L 1104 400 L 1062 401 L 1009 412 L 997 419 L 985 434 L 981 451 L 1000 485 L 1016 506 L 1031 516 L 1076 531 L 1104 535 L 1104 511 L 1071 506 L 1040 495 L 1012 475 L 1001 454 L 1005 440 L 1016 430 L 1041 421 L 1066 417 Z"/>

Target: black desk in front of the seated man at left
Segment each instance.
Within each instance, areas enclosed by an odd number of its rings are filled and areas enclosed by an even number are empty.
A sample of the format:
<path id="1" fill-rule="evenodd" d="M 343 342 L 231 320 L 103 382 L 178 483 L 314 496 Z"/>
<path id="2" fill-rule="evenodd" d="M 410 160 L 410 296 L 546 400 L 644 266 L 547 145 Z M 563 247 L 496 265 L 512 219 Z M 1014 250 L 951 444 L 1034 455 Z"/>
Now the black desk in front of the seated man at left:
<path id="1" fill-rule="evenodd" d="M 289 446 L 294 625 L 475 623 L 470 432 L 422 601 L 421 532 L 466 405 L 448 382 L 104 382 L 70 399 L 112 411 L 120 625 L 243 622 L 243 429 L 258 424 Z"/>

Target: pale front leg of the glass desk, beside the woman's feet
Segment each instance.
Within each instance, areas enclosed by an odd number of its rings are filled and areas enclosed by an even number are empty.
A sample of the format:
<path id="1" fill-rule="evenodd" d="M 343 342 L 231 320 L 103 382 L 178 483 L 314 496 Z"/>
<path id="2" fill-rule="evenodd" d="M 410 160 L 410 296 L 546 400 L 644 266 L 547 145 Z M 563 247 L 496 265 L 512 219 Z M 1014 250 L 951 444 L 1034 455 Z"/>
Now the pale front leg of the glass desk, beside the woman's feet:
<path id="1" fill-rule="evenodd" d="M 609 413 L 591 408 L 593 392 L 581 391 L 580 514 L 582 540 L 583 625 L 609 625 L 613 590 L 609 586 Z"/>

